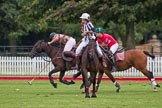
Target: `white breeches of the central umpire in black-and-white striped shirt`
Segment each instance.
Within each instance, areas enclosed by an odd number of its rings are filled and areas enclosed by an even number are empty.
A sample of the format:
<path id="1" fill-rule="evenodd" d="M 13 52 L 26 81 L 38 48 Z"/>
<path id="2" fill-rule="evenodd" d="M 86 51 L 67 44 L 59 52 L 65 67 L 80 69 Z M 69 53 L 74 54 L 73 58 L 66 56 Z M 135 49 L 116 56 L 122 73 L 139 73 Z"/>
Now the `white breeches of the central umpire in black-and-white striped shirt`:
<path id="1" fill-rule="evenodd" d="M 89 39 L 83 38 L 82 42 L 79 44 L 79 46 L 76 49 L 75 55 L 76 56 L 80 55 L 83 47 L 86 47 L 88 45 L 88 43 L 89 43 Z M 97 41 L 96 41 L 96 48 L 97 48 L 97 52 L 102 56 L 103 54 L 102 54 L 101 48 L 99 47 L 99 44 Z"/>

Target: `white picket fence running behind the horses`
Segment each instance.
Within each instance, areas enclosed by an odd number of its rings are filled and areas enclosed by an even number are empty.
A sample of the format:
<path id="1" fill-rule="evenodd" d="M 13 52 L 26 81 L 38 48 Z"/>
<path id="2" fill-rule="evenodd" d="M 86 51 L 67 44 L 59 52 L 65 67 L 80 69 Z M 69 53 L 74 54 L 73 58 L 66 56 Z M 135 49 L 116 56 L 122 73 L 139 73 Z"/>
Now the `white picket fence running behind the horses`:
<path id="1" fill-rule="evenodd" d="M 45 57 L 45 59 L 50 60 L 48 57 Z M 0 56 L 0 75 L 38 75 L 47 64 L 48 62 L 44 61 L 41 57 L 31 59 L 30 57 Z M 155 60 L 148 58 L 147 68 L 154 73 L 154 76 L 162 76 L 161 67 L 162 57 L 156 57 Z M 48 75 L 48 72 L 53 68 L 54 66 L 50 63 L 47 68 L 41 72 L 41 75 Z M 74 73 L 76 73 L 75 70 L 67 71 L 66 76 Z M 59 73 L 54 75 L 59 75 Z M 135 68 L 130 68 L 123 72 L 114 72 L 113 75 L 120 77 L 143 77 L 143 74 Z"/>

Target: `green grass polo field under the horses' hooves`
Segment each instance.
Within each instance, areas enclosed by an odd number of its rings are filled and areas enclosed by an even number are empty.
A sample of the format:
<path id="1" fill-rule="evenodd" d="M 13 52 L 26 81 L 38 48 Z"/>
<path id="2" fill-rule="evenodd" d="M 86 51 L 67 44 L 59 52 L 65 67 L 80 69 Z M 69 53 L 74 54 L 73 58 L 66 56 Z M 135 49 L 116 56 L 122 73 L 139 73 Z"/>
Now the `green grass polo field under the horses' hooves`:
<path id="1" fill-rule="evenodd" d="M 0 81 L 0 108 L 162 108 L 162 89 L 153 92 L 150 82 L 119 82 L 120 93 L 111 82 L 102 82 L 97 98 L 84 98 L 75 85 L 49 81 Z M 159 83 L 162 85 L 162 82 Z"/>

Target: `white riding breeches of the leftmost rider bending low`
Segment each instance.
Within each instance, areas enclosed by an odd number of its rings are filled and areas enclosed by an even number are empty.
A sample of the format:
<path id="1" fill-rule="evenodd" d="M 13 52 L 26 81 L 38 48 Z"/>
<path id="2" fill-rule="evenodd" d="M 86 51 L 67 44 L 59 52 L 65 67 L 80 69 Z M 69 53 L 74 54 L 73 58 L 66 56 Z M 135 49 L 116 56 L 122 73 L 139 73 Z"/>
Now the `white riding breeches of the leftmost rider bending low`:
<path id="1" fill-rule="evenodd" d="M 74 38 L 70 37 L 69 40 L 66 42 L 64 51 L 71 51 L 71 49 L 76 45 L 76 41 Z"/>

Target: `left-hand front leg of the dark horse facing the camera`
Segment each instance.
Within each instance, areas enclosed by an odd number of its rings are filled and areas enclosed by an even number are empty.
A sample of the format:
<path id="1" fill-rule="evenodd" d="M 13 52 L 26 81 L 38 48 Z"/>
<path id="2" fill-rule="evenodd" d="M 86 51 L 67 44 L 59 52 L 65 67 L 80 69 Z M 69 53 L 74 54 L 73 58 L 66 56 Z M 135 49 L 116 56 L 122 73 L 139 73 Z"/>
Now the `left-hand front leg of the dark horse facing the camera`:
<path id="1" fill-rule="evenodd" d="M 87 75 L 87 69 L 83 69 L 82 76 L 83 76 L 83 82 L 85 83 L 85 98 L 90 98 L 89 96 L 89 84 L 88 84 L 88 75 Z"/>

